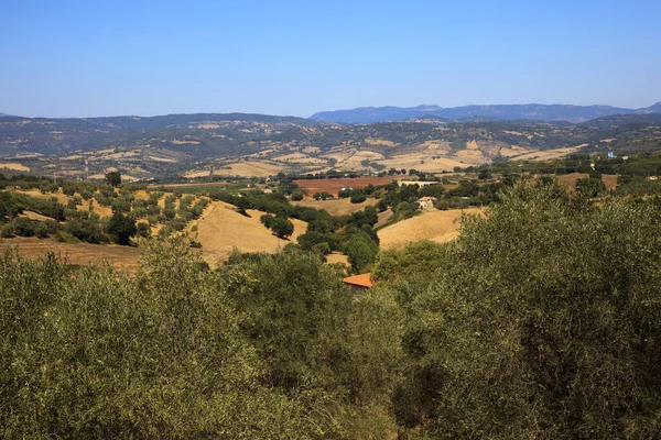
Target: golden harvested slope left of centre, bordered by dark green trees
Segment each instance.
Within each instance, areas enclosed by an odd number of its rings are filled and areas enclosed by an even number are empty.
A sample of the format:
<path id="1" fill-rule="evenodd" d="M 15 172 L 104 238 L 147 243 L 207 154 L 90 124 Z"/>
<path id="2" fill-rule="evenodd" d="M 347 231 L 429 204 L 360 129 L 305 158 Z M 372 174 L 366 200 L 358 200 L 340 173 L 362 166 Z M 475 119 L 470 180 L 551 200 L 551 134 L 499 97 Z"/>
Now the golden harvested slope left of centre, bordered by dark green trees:
<path id="1" fill-rule="evenodd" d="M 241 252 L 277 252 L 288 243 L 295 243 L 296 238 L 305 233 L 307 223 L 291 219 L 294 223 L 294 234 L 290 240 L 281 240 L 273 235 L 259 221 L 263 212 L 249 209 L 250 217 L 237 212 L 235 206 L 223 201 L 212 202 L 205 209 L 202 218 L 192 222 L 191 227 L 197 226 L 197 232 L 191 235 L 202 243 L 202 256 L 214 265 L 218 261 L 226 260 L 236 248 Z"/>

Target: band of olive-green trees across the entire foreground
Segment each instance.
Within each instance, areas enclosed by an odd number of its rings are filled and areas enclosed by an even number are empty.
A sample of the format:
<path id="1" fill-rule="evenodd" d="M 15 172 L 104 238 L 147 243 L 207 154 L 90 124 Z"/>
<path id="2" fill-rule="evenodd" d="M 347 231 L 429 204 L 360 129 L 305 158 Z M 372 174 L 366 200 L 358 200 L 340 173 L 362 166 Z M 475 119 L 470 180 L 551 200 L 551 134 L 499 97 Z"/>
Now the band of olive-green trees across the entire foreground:
<path id="1" fill-rule="evenodd" d="M 314 252 L 0 260 L 4 438 L 649 439 L 661 202 L 505 188 L 354 296 Z M 416 263 L 422 262 L 422 264 Z"/>

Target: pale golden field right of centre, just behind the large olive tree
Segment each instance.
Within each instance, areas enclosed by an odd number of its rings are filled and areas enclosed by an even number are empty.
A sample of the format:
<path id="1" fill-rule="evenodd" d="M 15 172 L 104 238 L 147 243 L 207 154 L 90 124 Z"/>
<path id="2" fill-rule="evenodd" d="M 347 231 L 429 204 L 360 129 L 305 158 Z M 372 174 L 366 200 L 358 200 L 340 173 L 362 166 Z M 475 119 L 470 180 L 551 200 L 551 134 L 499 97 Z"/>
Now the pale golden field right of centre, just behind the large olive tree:
<path id="1" fill-rule="evenodd" d="M 381 249 L 399 249 L 421 240 L 431 240 L 436 243 L 452 241 L 458 235 L 462 215 L 479 212 L 481 212 L 479 208 L 423 212 L 379 230 Z"/>

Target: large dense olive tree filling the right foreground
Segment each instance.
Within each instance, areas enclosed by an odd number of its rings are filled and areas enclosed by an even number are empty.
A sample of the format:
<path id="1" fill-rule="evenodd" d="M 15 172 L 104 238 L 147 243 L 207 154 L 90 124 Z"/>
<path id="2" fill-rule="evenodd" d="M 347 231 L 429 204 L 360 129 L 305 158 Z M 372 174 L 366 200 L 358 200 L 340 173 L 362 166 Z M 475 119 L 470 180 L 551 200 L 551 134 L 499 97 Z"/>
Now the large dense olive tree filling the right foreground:
<path id="1" fill-rule="evenodd" d="M 409 311 L 399 422 L 448 438 L 655 437 L 660 219 L 540 180 L 467 218 L 442 270 L 393 285 Z"/>

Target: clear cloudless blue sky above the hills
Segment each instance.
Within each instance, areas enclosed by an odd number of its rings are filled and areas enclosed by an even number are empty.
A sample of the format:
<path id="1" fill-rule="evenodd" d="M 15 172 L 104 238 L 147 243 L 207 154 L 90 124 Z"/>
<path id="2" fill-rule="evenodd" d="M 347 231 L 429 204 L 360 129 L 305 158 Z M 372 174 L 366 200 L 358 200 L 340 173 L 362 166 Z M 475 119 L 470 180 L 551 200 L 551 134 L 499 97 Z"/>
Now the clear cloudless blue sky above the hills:
<path id="1" fill-rule="evenodd" d="M 0 111 L 661 101 L 661 1 L 0 0 Z"/>

